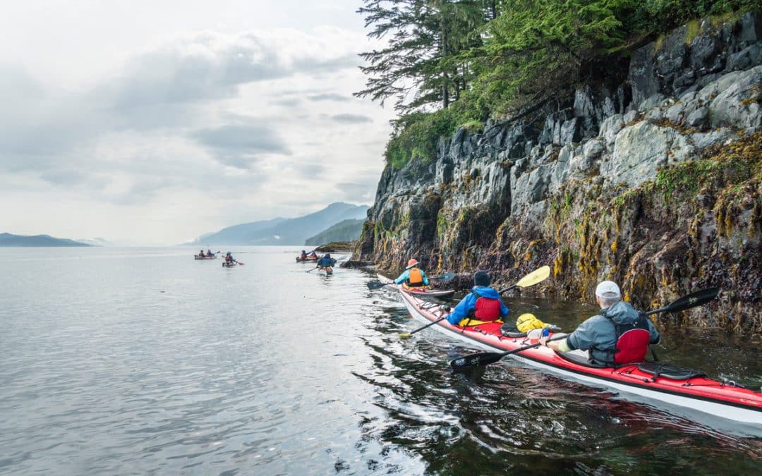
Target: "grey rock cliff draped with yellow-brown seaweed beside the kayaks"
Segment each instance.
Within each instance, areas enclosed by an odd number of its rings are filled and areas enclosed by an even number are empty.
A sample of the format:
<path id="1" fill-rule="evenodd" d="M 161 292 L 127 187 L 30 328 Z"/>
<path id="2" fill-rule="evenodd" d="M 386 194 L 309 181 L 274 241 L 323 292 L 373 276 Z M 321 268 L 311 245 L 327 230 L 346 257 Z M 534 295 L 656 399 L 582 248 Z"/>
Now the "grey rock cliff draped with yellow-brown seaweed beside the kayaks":
<path id="1" fill-rule="evenodd" d="M 558 104 L 387 166 L 355 259 L 504 283 L 550 264 L 540 291 L 592 301 L 610 279 L 642 308 L 721 286 L 687 318 L 762 331 L 762 14 L 678 28 Z"/>

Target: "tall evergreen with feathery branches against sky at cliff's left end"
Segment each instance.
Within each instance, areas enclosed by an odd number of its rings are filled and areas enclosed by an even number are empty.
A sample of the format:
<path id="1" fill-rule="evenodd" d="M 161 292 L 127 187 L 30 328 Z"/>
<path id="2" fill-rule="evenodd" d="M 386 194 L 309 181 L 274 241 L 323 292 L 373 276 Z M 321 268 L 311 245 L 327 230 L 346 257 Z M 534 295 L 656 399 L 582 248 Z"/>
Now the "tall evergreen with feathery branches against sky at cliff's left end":
<path id="1" fill-rule="evenodd" d="M 386 39 L 381 50 L 362 53 L 370 62 L 366 89 L 358 97 L 395 98 L 405 112 L 440 104 L 449 107 L 468 87 L 469 65 L 460 53 L 481 44 L 485 2 L 472 0 L 366 0 L 358 13 L 371 38 Z"/>

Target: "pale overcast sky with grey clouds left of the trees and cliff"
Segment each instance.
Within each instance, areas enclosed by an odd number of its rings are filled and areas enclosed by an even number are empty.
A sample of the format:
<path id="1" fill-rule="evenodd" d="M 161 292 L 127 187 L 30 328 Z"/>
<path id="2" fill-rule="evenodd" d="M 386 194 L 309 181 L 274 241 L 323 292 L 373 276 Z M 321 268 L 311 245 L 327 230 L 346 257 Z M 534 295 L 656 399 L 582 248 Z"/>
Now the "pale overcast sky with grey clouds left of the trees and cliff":
<path id="1" fill-rule="evenodd" d="M 177 244 L 373 203 L 360 0 L 24 0 L 0 14 L 0 232 Z"/>

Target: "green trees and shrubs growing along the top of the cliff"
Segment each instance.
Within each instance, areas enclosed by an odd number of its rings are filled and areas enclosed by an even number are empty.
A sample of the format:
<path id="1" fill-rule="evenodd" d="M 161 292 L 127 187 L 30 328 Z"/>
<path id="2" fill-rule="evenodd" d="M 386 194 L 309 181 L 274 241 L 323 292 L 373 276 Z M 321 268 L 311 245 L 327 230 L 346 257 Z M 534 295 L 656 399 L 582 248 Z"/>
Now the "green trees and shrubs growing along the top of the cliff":
<path id="1" fill-rule="evenodd" d="M 753 0 L 367 0 L 368 36 L 388 42 L 363 53 L 366 88 L 355 93 L 399 117 L 385 158 L 402 168 L 434 160 L 459 127 L 542 117 L 584 85 L 616 88 L 641 46 L 685 25 L 685 42 L 758 8 Z M 558 108 L 558 107 L 557 107 Z"/>

